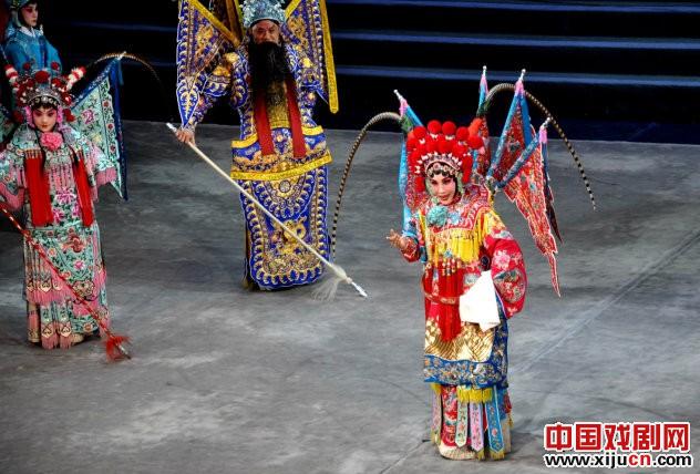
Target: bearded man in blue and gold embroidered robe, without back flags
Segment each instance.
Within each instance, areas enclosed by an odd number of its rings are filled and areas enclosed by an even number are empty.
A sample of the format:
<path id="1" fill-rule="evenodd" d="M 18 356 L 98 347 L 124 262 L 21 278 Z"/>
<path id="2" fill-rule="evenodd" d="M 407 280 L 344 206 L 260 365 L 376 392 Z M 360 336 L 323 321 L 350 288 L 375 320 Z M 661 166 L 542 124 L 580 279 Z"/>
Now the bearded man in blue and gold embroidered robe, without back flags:
<path id="1" fill-rule="evenodd" d="M 206 111 L 228 95 L 240 115 L 240 140 L 231 144 L 231 178 L 328 257 L 331 156 L 326 135 L 311 116 L 321 78 L 303 49 L 285 41 L 285 11 L 277 1 L 248 0 L 241 10 L 243 41 L 206 73 L 177 137 L 194 141 Z M 271 290 L 320 278 L 323 267 L 313 255 L 243 195 L 240 202 L 246 218 L 246 288 Z"/>

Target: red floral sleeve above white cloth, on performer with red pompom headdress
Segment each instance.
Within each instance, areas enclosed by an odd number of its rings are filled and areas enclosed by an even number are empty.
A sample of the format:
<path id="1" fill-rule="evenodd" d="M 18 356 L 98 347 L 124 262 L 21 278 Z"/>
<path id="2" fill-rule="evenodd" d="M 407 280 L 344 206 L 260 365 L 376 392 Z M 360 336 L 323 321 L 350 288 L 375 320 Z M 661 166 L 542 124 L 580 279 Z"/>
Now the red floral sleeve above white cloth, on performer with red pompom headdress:
<path id="1" fill-rule="evenodd" d="M 484 212 L 481 218 L 484 228 L 483 246 L 491 260 L 493 282 L 503 301 L 506 317 L 511 318 L 525 305 L 527 276 L 523 253 L 493 209 Z"/>

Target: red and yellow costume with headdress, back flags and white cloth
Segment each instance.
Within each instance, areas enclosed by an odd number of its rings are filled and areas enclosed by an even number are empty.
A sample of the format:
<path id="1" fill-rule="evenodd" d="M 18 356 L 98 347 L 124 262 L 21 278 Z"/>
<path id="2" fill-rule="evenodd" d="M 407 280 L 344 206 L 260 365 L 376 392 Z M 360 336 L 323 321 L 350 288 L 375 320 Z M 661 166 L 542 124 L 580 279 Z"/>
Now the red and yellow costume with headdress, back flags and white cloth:
<path id="1" fill-rule="evenodd" d="M 546 146 L 546 126 L 554 118 L 548 116 L 536 133 L 523 76 L 514 86 L 501 84 L 498 91 L 509 89 L 515 94 L 492 156 L 486 112 L 493 94 L 485 68 L 480 89 L 477 118 L 459 128 L 436 121 L 423 127 L 398 94 L 406 133 L 399 172 L 404 218 L 402 235 L 392 231 L 388 237 L 406 260 L 424 265 L 424 375 L 433 389 L 431 437 L 441 455 L 454 460 L 498 460 L 511 450 L 507 321 L 523 309 L 527 277 L 521 249 L 493 208 L 496 192 L 504 190 L 527 220 L 559 292 Z M 587 184 L 583 172 L 581 176 Z M 431 193 L 450 178 L 456 182 L 456 192 L 452 202 L 444 203 L 444 192 L 440 198 Z M 494 302 L 493 317 L 480 317 L 474 295 L 480 301 Z M 477 305 L 476 309 L 488 307 Z"/>

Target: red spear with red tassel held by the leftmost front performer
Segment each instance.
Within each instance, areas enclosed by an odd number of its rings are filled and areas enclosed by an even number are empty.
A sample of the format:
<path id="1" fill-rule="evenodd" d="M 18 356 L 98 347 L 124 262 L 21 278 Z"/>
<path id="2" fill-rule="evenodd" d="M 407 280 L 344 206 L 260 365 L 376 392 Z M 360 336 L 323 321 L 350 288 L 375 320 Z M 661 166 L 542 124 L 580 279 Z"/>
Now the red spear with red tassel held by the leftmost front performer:
<path id="1" fill-rule="evenodd" d="M 29 245 L 31 245 L 34 250 L 39 253 L 44 262 L 53 270 L 56 277 L 65 285 L 65 287 L 73 293 L 75 297 L 75 301 L 82 305 L 87 309 L 92 319 L 97 323 L 102 333 L 106 336 L 106 340 L 104 341 L 104 349 L 107 354 L 107 360 L 110 362 L 114 362 L 121 359 L 131 359 L 131 354 L 124 347 L 125 343 L 128 342 L 128 337 L 115 334 L 112 332 L 105 322 L 104 318 L 100 316 L 100 313 L 95 310 L 95 308 L 82 296 L 78 292 L 75 288 L 71 284 L 69 284 L 65 278 L 61 275 L 61 271 L 53 265 L 44 248 L 31 236 L 29 230 L 27 230 L 22 225 L 14 218 L 14 216 L 8 210 L 8 205 L 4 203 L 0 203 L 0 212 L 10 219 L 10 223 L 24 236 Z M 106 309 L 101 307 L 101 310 Z"/>

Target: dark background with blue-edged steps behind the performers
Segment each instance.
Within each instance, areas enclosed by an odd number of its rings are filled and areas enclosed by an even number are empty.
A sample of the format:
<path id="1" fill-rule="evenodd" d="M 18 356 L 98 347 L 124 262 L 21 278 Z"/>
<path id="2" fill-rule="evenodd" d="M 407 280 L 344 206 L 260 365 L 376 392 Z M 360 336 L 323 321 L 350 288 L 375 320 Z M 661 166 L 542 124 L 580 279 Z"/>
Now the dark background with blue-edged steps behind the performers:
<path id="1" fill-rule="evenodd" d="M 514 82 L 527 69 L 526 89 L 574 138 L 700 143 L 700 2 L 327 4 L 340 112 L 331 115 L 319 105 L 326 127 L 360 128 L 375 113 L 397 110 L 394 89 L 423 120 L 469 121 L 486 64 L 491 86 Z M 176 1 L 47 0 L 40 19 L 66 66 L 122 50 L 154 64 L 167 100 L 145 70 L 127 62 L 125 118 L 177 117 Z M 490 117 L 505 114 L 508 94 L 498 103 Z M 236 123 L 237 115 L 219 104 L 207 121 Z"/>

